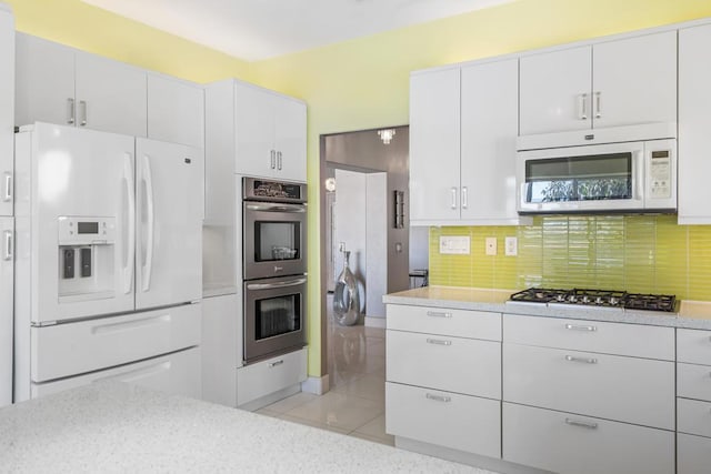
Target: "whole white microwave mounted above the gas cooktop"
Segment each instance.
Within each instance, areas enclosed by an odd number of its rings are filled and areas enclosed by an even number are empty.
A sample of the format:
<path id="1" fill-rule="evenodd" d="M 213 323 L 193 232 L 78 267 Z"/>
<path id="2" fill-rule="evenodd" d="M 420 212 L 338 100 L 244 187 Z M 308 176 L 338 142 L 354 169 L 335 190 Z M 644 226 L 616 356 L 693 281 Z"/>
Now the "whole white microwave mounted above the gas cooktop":
<path id="1" fill-rule="evenodd" d="M 677 124 L 519 137 L 521 214 L 677 212 Z"/>

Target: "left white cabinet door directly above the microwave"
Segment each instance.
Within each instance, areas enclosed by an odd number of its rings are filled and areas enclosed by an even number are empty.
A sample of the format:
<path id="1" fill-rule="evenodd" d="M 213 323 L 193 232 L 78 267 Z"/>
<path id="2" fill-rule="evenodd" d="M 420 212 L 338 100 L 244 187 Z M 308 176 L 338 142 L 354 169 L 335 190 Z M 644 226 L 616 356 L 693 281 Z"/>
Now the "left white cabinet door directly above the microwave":
<path id="1" fill-rule="evenodd" d="M 591 80 L 591 47 L 521 58 L 520 133 L 590 129 Z"/>

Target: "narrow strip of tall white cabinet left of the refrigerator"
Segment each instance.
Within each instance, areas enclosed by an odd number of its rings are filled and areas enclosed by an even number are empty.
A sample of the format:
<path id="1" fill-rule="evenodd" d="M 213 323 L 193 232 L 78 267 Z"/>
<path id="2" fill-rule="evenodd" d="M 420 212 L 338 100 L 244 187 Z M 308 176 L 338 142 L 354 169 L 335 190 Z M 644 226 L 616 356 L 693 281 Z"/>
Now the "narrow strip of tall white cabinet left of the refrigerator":
<path id="1" fill-rule="evenodd" d="M 12 403 L 14 21 L 0 3 L 0 407 Z"/>

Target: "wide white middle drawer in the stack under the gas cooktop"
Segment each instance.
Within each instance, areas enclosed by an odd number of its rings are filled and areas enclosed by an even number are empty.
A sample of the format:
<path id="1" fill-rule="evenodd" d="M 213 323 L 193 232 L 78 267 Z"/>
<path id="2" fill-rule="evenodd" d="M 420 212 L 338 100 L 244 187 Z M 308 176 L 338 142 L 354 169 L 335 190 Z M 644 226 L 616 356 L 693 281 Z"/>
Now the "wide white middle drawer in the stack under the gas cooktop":
<path id="1" fill-rule="evenodd" d="M 503 400 L 674 428 L 674 364 L 503 344 Z"/>

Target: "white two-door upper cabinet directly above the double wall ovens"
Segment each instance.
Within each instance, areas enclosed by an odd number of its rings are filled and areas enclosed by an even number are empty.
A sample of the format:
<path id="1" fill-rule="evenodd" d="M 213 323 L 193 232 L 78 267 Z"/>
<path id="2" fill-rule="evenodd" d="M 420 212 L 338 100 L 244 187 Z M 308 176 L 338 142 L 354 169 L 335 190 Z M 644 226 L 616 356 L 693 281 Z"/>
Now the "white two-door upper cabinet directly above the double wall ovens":
<path id="1" fill-rule="evenodd" d="M 293 98 L 234 81 L 236 171 L 307 180 L 307 107 Z"/>

